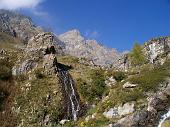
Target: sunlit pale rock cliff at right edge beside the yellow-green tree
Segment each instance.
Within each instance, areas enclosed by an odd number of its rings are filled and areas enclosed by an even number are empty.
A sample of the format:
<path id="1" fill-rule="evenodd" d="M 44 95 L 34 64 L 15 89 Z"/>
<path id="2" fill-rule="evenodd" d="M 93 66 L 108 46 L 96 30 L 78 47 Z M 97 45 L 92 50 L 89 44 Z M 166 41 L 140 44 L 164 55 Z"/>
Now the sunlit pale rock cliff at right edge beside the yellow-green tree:
<path id="1" fill-rule="evenodd" d="M 144 51 L 151 63 L 163 63 L 170 54 L 170 37 L 152 39 L 145 44 Z"/>

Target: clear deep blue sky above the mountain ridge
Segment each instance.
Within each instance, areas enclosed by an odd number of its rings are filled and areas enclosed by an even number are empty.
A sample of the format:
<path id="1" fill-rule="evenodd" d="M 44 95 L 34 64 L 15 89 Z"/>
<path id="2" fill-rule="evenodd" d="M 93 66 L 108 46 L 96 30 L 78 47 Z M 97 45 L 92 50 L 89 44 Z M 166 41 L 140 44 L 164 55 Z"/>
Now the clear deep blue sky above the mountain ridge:
<path id="1" fill-rule="evenodd" d="M 130 50 L 134 42 L 170 35 L 170 0 L 46 0 L 22 10 L 57 34 L 78 29 L 109 48 Z"/>

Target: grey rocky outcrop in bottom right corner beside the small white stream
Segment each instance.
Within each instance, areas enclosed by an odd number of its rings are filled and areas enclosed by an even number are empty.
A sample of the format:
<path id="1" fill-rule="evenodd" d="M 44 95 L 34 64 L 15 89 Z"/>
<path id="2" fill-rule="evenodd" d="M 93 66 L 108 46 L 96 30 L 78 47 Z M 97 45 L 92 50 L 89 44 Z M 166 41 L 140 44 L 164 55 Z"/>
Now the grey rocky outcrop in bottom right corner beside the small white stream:
<path id="1" fill-rule="evenodd" d="M 119 119 L 117 123 L 114 124 L 114 127 L 156 127 L 158 126 L 161 116 L 167 113 L 169 110 L 169 98 L 168 94 L 170 92 L 169 80 L 162 83 L 159 90 L 155 93 L 148 92 L 146 93 L 147 98 L 147 108 L 143 108 L 140 111 L 135 111 L 133 109 L 133 104 L 125 104 L 122 109 L 122 113 L 126 115 L 123 118 Z M 129 106 L 131 108 L 128 108 Z M 119 108 L 120 109 L 120 108 Z M 126 110 L 130 113 L 127 113 Z M 121 111 L 121 110 L 118 110 Z M 119 113 L 120 114 L 120 113 Z"/>

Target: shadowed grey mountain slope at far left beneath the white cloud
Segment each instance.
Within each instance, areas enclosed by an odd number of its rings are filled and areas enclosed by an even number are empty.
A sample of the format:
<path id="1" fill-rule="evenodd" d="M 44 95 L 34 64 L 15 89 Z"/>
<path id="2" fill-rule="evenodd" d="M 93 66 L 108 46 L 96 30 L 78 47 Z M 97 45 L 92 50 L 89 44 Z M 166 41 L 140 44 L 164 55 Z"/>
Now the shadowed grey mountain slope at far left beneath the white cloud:
<path id="1" fill-rule="evenodd" d="M 25 43 L 42 29 L 36 27 L 30 18 L 17 12 L 0 10 L 0 32 L 21 38 Z"/>

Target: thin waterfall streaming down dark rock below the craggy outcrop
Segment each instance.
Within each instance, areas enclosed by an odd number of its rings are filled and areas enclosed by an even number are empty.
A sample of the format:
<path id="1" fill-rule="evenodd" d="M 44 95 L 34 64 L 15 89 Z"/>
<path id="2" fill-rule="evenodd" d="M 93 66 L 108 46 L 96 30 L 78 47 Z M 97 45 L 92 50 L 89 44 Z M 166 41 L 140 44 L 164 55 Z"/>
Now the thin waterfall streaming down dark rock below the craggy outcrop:
<path id="1" fill-rule="evenodd" d="M 75 83 L 71 77 L 71 75 L 66 71 L 60 69 L 58 71 L 60 80 L 63 84 L 63 90 L 65 92 L 66 101 L 67 101 L 67 114 L 68 117 L 71 117 L 74 121 L 77 120 L 80 104 L 79 104 L 79 96 L 75 90 Z"/>

